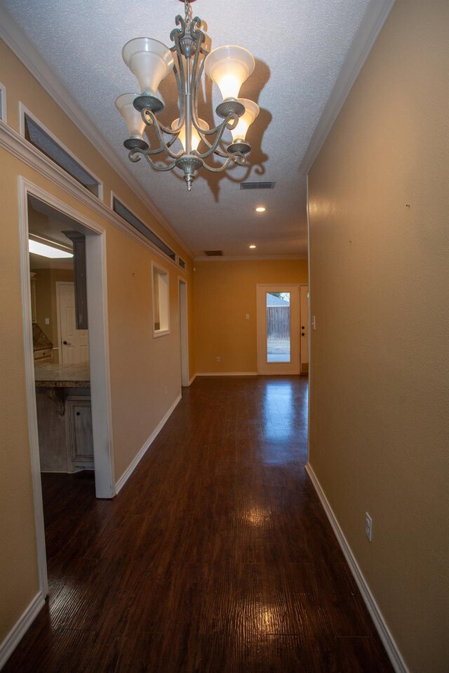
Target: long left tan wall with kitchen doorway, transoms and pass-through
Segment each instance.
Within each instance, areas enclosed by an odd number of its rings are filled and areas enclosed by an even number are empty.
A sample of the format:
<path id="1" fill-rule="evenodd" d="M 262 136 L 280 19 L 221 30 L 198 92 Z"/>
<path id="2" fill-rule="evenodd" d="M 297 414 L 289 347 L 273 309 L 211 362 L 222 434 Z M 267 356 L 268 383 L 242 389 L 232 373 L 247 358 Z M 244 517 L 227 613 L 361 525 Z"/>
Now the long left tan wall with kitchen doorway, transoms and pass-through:
<path id="1" fill-rule="evenodd" d="M 7 88 L 8 124 L 19 128 L 18 102 L 27 107 L 72 152 L 103 180 L 103 199 L 110 190 L 122 199 L 187 262 L 185 279 L 192 292 L 192 260 L 164 231 L 130 187 L 95 152 L 67 120 L 18 59 L 0 42 L 0 81 Z M 165 263 L 148 248 L 130 239 L 87 205 L 69 196 L 0 148 L 0 643 L 13 628 L 39 589 L 34 533 L 32 477 L 27 429 L 25 353 L 20 281 L 18 176 L 41 187 L 80 215 L 105 229 L 109 315 L 112 433 L 115 478 L 118 480 L 180 394 L 180 345 L 177 279 L 181 269 Z M 170 335 L 152 338 L 150 309 L 151 262 L 170 273 Z M 192 302 L 190 302 L 192 315 Z M 193 339 L 193 327 L 189 326 Z M 194 355 L 191 354 L 194 364 Z M 193 373 L 193 371 L 192 371 Z"/>

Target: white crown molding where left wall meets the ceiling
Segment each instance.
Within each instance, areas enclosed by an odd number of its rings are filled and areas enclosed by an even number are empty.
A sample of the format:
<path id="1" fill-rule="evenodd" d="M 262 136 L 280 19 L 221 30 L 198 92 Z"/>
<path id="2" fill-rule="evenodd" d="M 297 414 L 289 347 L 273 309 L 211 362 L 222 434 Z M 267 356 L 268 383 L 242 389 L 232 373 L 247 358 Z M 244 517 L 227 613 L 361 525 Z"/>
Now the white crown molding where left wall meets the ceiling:
<path id="1" fill-rule="evenodd" d="M 17 22 L 13 19 L 11 14 L 5 7 L 0 5 L 0 38 L 8 45 L 8 47 L 15 53 L 17 58 L 22 61 L 23 65 L 31 72 L 34 78 L 41 84 L 46 92 L 51 95 L 51 98 L 58 104 L 65 114 L 73 121 L 75 126 L 79 128 L 81 133 L 93 144 L 94 147 L 100 145 L 102 147 L 102 156 L 107 161 L 109 166 L 118 173 L 120 178 L 126 182 L 128 187 L 133 190 L 138 199 L 148 208 L 150 213 L 154 215 L 156 220 L 163 226 L 164 229 L 173 236 L 173 239 L 180 245 L 190 257 L 193 258 L 193 252 L 182 241 L 179 234 L 175 232 L 168 220 L 162 215 L 161 211 L 149 199 L 139 182 L 135 179 L 133 173 L 128 171 L 121 163 L 119 156 L 111 149 L 107 139 L 102 135 L 101 131 L 91 122 L 79 103 L 75 100 L 68 89 L 53 72 L 46 60 L 41 56 L 39 51 L 29 41 L 27 34 L 20 28 Z"/>

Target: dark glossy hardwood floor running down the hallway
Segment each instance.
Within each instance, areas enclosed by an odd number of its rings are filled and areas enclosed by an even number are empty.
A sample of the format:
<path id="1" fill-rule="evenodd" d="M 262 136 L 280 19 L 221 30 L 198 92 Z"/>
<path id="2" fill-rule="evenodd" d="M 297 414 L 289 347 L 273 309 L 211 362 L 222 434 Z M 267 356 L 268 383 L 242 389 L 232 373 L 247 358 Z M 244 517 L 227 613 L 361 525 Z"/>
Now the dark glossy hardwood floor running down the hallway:
<path id="1" fill-rule="evenodd" d="M 114 500 L 44 474 L 50 594 L 4 673 L 391 673 L 306 458 L 305 378 L 198 378 Z"/>

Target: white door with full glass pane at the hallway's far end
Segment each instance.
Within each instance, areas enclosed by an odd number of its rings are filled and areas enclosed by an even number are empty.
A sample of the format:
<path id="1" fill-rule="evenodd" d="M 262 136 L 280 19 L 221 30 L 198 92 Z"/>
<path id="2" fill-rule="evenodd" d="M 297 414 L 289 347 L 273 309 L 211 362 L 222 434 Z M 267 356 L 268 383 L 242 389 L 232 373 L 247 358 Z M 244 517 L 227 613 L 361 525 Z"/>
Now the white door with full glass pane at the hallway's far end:
<path id="1" fill-rule="evenodd" d="M 300 286 L 257 285 L 257 373 L 300 373 Z"/>

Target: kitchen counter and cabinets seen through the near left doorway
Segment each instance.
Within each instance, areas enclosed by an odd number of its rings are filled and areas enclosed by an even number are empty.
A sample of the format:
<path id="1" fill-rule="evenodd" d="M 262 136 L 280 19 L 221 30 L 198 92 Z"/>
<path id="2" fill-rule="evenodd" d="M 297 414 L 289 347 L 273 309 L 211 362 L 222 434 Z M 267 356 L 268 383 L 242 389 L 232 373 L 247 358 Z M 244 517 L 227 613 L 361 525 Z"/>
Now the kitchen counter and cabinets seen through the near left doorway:
<path id="1" fill-rule="evenodd" d="M 67 236 L 78 225 L 32 195 L 27 215 L 41 473 L 93 470 L 88 329 L 77 306 L 86 295 L 85 256 Z M 85 248 L 85 234 L 76 234 Z"/>

